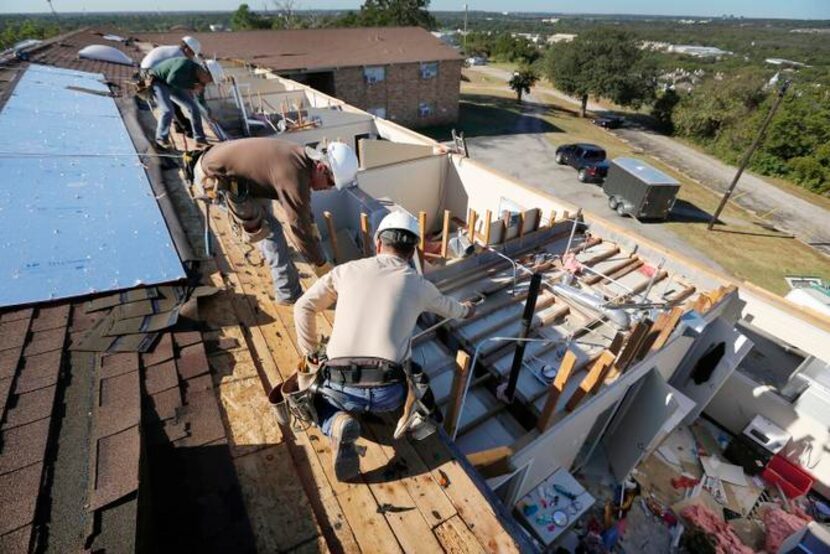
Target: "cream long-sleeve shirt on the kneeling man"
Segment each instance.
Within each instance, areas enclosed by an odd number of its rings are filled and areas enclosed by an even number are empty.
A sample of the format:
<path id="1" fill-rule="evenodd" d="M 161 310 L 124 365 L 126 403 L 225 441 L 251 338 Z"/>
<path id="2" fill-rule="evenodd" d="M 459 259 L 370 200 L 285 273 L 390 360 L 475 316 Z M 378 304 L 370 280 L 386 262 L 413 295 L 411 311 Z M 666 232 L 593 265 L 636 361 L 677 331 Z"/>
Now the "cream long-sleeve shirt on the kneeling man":
<path id="1" fill-rule="evenodd" d="M 316 314 L 337 302 L 326 347 L 329 359 L 376 357 L 403 362 L 423 312 L 463 318 L 467 307 L 441 294 L 406 260 L 390 254 L 332 269 L 294 305 L 294 325 L 303 354 L 319 345 Z"/>

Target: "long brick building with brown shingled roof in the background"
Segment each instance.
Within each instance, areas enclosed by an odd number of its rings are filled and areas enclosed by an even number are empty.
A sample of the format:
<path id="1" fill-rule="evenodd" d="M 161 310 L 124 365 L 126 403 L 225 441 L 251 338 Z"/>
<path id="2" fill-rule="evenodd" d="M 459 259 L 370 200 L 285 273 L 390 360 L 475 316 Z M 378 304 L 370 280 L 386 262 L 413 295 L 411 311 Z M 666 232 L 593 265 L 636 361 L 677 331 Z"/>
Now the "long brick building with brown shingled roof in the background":
<path id="1" fill-rule="evenodd" d="M 142 40 L 175 44 L 180 33 Z M 463 59 L 420 27 L 199 33 L 206 56 L 245 60 L 409 127 L 458 119 Z"/>

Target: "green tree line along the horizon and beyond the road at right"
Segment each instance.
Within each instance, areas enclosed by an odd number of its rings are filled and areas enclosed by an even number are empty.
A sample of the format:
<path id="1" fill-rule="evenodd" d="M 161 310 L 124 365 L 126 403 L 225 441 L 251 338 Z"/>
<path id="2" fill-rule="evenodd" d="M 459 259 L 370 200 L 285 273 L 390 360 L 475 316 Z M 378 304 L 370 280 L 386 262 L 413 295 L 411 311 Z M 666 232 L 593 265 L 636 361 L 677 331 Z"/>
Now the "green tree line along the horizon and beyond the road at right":
<path id="1" fill-rule="evenodd" d="M 346 12 L 299 12 L 296 7 L 296 0 L 271 0 L 271 9 L 259 12 L 242 4 L 230 18 L 228 14 L 5 17 L 0 20 L 0 46 L 113 22 L 128 31 L 166 30 L 172 24 L 199 31 L 213 23 L 229 24 L 233 30 L 393 25 L 435 29 L 440 24 L 429 11 L 429 0 L 365 0 L 359 10 Z M 461 21 L 457 13 L 442 17 L 449 17 L 452 25 Z M 764 58 L 804 60 L 811 67 L 783 74 L 795 82 L 750 167 L 818 193 L 830 192 L 830 48 L 825 44 L 830 41 L 816 40 L 826 34 L 814 38 L 792 33 L 788 25 L 775 22 L 749 26 L 716 21 L 678 29 L 672 21 L 660 19 L 567 18 L 554 25 L 518 15 L 473 14 L 472 19 L 476 29 L 488 30 L 471 32 L 460 41 L 465 55 L 518 64 L 510 86 L 519 99 L 544 77 L 577 96 L 583 113 L 590 97 L 646 112 L 649 122 L 663 132 L 693 141 L 730 163 L 749 146 L 774 96 Z M 570 43 L 539 46 L 516 34 L 540 29 L 578 36 Z M 717 45 L 736 55 L 716 60 L 678 58 L 642 49 L 644 39 Z M 690 91 L 676 91 L 659 79 L 661 72 L 675 67 L 705 67 L 706 76 Z"/>

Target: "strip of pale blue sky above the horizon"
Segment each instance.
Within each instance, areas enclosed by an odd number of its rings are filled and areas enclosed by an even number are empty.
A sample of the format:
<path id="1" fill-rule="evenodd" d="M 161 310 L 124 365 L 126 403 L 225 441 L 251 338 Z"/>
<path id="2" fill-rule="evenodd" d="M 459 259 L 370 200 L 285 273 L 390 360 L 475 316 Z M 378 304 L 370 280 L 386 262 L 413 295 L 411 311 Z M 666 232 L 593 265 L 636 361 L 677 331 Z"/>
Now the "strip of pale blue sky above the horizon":
<path id="1" fill-rule="evenodd" d="M 243 0 L 52 0 L 58 12 L 79 11 L 156 11 L 156 10 L 232 10 Z M 247 0 L 261 9 L 268 0 Z M 717 16 L 722 14 L 745 17 L 780 17 L 797 19 L 830 19 L 830 0 L 468 0 L 470 9 L 502 11 L 545 11 L 574 13 L 627 13 L 649 15 Z M 300 0 L 301 9 L 357 8 L 360 0 Z M 432 9 L 460 10 L 464 0 L 433 0 Z M 46 0 L 0 0 L 0 13 L 45 12 Z"/>

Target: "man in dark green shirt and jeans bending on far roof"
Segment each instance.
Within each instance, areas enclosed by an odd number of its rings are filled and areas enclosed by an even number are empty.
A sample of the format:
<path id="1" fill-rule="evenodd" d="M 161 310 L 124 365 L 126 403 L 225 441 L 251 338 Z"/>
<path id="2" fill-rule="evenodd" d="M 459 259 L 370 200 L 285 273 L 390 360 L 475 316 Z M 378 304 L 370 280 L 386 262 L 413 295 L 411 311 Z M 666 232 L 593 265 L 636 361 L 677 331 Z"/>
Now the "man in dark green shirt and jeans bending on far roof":
<path id="1" fill-rule="evenodd" d="M 202 114 L 196 95 L 212 82 L 210 73 L 189 58 L 170 58 L 150 70 L 153 77 L 153 96 L 159 111 L 156 125 L 156 144 L 170 148 L 170 122 L 173 120 L 173 102 L 178 104 L 190 120 L 196 146 L 207 146 L 202 127 Z"/>

